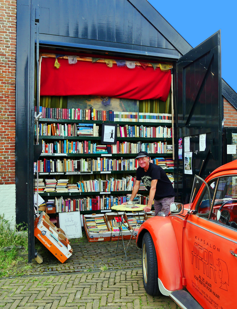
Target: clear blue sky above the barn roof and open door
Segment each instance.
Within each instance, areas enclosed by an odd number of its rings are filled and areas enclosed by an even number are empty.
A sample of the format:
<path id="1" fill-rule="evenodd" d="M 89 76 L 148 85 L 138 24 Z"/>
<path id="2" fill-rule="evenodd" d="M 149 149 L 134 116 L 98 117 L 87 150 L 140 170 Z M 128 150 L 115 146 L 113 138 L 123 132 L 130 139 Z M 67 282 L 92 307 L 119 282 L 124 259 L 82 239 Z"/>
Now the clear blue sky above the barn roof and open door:
<path id="1" fill-rule="evenodd" d="M 192 46 L 221 29 L 222 78 L 237 92 L 237 1 L 148 0 L 172 27 Z"/>

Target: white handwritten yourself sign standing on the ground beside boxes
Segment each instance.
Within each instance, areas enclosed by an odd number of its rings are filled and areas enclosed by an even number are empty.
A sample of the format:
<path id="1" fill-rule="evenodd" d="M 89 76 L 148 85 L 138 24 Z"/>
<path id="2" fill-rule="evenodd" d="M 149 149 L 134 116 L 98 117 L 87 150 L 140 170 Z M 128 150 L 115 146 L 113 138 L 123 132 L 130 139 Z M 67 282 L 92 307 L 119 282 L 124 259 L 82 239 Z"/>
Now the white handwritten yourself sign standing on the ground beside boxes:
<path id="1" fill-rule="evenodd" d="M 69 239 L 82 237 L 80 211 L 59 213 L 59 224 Z"/>

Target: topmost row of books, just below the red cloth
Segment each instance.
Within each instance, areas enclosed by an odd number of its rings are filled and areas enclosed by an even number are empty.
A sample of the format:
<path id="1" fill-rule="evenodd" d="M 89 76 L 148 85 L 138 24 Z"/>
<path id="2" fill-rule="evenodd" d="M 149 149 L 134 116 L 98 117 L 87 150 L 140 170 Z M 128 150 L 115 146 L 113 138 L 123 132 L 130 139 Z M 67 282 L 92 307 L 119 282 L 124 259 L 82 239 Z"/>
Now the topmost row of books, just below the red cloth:
<path id="1" fill-rule="evenodd" d="M 39 112 L 42 118 L 68 119 L 68 120 L 92 120 L 92 121 L 127 121 L 127 122 L 157 122 L 171 123 L 171 114 L 145 113 L 145 112 L 118 112 L 80 108 L 47 108 L 40 106 Z"/>

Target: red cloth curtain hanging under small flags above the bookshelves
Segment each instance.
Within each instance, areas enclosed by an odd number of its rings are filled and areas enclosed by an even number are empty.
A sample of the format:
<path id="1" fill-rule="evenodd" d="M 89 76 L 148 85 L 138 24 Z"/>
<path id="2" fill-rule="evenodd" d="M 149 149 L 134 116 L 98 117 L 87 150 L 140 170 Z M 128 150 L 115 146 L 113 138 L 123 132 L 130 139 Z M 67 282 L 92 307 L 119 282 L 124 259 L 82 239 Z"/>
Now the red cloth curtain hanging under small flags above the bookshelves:
<path id="1" fill-rule="evenodd" d="M 171 72 L 160 68 L 126 66 L 109 68 L 105 63 L 77 61 L 68 64 L 58 59 L 60 68 L 54 67 L 55 58 L 43 57 L 41 62 L 40 95 L 104 95 L 126 99 L 161 99 L 169 95 Z"/>

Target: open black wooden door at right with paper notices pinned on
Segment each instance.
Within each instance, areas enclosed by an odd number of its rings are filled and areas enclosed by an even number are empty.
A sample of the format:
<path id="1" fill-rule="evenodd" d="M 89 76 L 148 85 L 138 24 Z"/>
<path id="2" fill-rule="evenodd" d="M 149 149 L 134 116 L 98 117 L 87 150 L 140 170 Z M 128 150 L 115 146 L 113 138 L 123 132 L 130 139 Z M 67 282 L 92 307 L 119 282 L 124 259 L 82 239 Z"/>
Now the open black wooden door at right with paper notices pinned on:
<path id="1" fill-rule="evenodd" d="M 182 138 L 182 159 L 178 159 L 178 173 L 182 181 L 178 184 L 178 190 L 183 193 L 184 203 L 189 202 L 194 175 L 199 175 L 202 161 L 204 164 L 200 176 L 204 179 L 222 164 L 221 104 L 219 30 L 177 63 L 177 139 Z M 200 134 L 206 134 L 204 151 L 199 148 Z M 185 173 L 184 138 L 188 136 L 192 152 L 190 174 Z"/>

